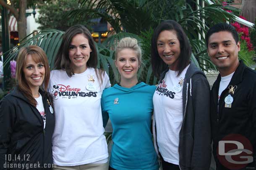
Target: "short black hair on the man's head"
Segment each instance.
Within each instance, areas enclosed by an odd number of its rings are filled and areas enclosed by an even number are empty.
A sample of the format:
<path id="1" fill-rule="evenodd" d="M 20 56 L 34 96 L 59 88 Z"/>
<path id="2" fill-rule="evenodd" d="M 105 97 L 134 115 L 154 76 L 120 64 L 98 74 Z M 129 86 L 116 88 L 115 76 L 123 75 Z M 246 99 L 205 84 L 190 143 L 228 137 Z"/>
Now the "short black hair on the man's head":
<path id="1" fill-rule="evenodd" d="M 235 27 L 233 27 L 233 25 L 231 24 L 227 24 L 227 23 L 217 23 L 216 25 L 213 25 L 208 32 L 206 33 L 206 47 L 208 48 L 208 42 L 209 42 L 209 38 L 210 36 L 212 36 L 213 33 L 218 33 L 220 31 L 227 31 L 230 32 L 233 36 L 233 38 L 235 39 L 235 43 L 237 44 L 239 41 L 238 38 L 238 32 L 235 30 Z"/>

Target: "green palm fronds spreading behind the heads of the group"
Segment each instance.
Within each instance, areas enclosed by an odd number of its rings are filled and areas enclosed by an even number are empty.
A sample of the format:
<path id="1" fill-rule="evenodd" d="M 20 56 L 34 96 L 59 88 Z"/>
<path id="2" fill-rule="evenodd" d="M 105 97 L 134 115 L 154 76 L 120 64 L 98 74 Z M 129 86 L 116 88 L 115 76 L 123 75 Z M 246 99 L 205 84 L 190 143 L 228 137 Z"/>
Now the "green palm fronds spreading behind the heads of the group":
<path id="1" fill-rule="evenodd" d="M 119 74 L 114 62 L 115 45 L 121 38 L 127 36 L 136 38 L 143 50 L 143 63 L 138 71 L 139 81 L 148 84 L 157 83 L 151 67 L 151 37 L 154 28 L 166 19 L 176 20 L 183 27 L 192 46 L 192 61 L 203 70 L 216 69 L 207 56 L 204 34 L 215 23 L 235 18 L 235 15 L 227 13 L 223 8 L 237 11 L 229 5 L 223 7 L 221 3 L 209 5 L 207 2 L 204 8 L 199 5 L 199 10 L 196 10 L 185 3 L 185 0 L 81 0 L 80 2 L 81 6 L 75 10 L 62 9 L 62 17 L 64 16 L 63 11 L 71 11 L 68 13 L 68 19 L 72 25 L 76 23 L 76 20 L 101 17 L 112 25 L 116 33 L 110 33 L 109 35 L 112 36 L 108 37 L 102 44 L 95 43 L 97 45 L 98 67 L 106 70 L 110 76 L 111 84 L 119 81 Z M 62 7 L 63 5 L 59 6 Z M 54 10 L 47 8 L 47 11 L 51 13 Z M 65 20 L 67 20 L 66 17 Z M 47 22 L 50 23 L 50 21 Z M 55 24 L 57 22 L 50 23 L 49 27 Z M 201 40 L 199 40 L 199 33 L 202 37 Z M 9 58 L 11 60 L 15 57 L 22 46 L 36 44 L 46 51 L 51 68 L 53 68 L 52 61 L 60 46 L 62 34 L 63 32 L 58 30 L 42 30 L 37 36 L 21 42 L 20 46 L 13 48 Z"/>

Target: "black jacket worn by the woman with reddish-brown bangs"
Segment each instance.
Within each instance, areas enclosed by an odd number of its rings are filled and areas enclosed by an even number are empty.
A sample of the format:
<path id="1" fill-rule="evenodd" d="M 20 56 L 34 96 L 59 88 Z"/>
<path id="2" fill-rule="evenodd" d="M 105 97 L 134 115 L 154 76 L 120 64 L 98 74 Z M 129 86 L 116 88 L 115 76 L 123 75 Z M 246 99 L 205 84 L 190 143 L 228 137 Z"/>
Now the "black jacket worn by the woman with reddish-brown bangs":
<path id="1" fill-rule="evenodd" d="M 46 125 L 37 108 L 15 89 L 0 101 L 0 170 L 50 170 L 54 114 L 42 90 Z"/>

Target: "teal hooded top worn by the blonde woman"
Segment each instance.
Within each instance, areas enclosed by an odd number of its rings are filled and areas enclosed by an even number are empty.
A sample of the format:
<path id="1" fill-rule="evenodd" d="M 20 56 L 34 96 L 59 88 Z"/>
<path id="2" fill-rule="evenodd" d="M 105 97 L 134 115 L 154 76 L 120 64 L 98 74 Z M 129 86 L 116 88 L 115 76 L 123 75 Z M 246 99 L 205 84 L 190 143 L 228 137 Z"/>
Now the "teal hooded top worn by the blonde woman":
<path id="1" fill-rule="evenodd" d="M 108 117 L 113 127 L 110 167 L 117 170 L 159 169 L 150 130 L 155 89 L 156 86 L 141 82 L 131 88 L 115 84 L 103 91 L 104 127 Z"/>

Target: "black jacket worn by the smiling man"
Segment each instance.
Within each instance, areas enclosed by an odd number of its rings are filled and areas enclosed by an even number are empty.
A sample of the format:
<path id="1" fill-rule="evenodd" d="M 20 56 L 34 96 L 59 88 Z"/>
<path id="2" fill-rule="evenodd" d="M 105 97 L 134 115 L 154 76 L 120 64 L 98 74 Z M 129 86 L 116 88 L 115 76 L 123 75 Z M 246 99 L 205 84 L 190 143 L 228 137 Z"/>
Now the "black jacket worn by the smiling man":
<path id="1" fill-rule="evenodd" d="M 256 71 L 245 66 L 240 61 L 238 68 L 232 76 L 227 88 L 222 91 L 219 98 L 218 93 L 221 76 L 217 77 L 211 91 L 211 125 L 213 137 L 213 155 L 217 169 L 227 169 L 217 159 L 217 146 L 223 137 L 229 134 L 241 134 L 253 145 L 256 150 Z M 237 86 L 233 97 L 231 108 L 225 107 L 225 97 L 229 94 L 229 86 Z M 235 139 L 234 139 L 235 140 Z M 225 151 L 227 152 L 227 151 Z M 219 167 L 219 168 L 218 168 Z"/>

